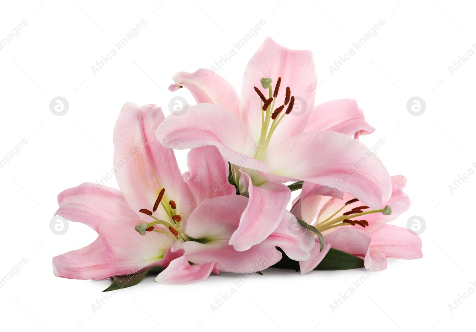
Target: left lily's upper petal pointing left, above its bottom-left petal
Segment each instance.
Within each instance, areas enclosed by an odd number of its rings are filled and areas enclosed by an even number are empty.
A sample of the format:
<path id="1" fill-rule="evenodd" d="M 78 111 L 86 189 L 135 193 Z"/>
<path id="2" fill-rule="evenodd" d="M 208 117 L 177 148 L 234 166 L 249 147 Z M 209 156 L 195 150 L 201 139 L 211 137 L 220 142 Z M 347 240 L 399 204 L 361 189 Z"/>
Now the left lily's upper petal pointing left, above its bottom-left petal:
<path id="1" fill-rule="evenodd" d="M 82 222 L 99 232 L 98 225 L 111 219 L 137 218 L 121 192 L 92 182 L 61 191 L 55 212 L 69 221 Z"/>

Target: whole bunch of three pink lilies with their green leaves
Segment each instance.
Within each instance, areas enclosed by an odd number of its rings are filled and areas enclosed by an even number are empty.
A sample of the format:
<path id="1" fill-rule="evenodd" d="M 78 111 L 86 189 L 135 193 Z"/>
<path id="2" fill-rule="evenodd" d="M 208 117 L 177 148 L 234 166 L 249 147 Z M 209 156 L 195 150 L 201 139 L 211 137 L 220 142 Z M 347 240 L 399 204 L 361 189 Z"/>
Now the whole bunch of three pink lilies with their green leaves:
<path id="1" fill-rule="evenodd" d="M 241 97 L 212 70 L 173 80 L 169 90 L 185 87 L 196 105 L 167 118 L 152 104 L 128 102 L 119 112 L 120 191 L 85 182 L 59 194 L 55 215 L 98 238 L 53 257 L 56 276 L 112 277 L 112 291 L 147 273 L 187 284 L 269 267 L 380 271 L 387 258 L 422 257 L 417 234 L 388 224 L 410 206 L 407 180 L 390 176 L 359 141 L 375 128 L 356 101 L 314 106 L 309 50 L 266 39 L 248 62 Z M 183 174 L 173 149 L 190 149 Z"/>

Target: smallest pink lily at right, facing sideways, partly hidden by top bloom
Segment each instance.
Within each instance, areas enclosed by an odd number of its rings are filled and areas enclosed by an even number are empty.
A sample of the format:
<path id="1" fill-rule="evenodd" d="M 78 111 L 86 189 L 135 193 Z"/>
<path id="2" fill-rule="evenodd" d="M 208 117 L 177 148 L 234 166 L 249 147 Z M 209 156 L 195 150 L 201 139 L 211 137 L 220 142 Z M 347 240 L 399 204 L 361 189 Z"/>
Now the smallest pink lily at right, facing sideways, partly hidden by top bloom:
<path id="1" fill-rule="evenodd" d="M 403 192 L 407 179 L 396 175 L 391 182 L 390 199 L 376 210 L 349 194 L 305 182 L 291 212 L 321 231 L 326 245 L 361 257 L 370 271 L 385 270 L 387 258 L 423 257 L 417 234 L 387 224 L 410 207 L 410 199 Z"/>

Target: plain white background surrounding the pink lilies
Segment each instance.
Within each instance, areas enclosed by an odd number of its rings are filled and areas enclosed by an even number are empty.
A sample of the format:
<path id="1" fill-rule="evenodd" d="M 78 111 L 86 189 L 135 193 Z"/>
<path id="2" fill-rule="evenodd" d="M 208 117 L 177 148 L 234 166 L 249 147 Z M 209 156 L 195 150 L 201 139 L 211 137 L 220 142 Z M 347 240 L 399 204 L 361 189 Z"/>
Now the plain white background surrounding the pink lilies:
<path id="1" fill-rule="evenodd" d="M 476 42 L 469 1 L 40 0 L 4 1 L 0 12 L 0 39 L 28 21 L 0 50 L 0 159 L 28 141 L 0 170 L 0 278 L 23 257 L 28 260 L 0 289 L 2 330 L 448 331 L 473 323 L 476 295 L 453 313 L 448 308 L 469 287 L 476 290 L 476 175 L 456 191 L 448 189 L 468 168 L 476 170 L 476 56 L 453 75 L 448 70 Z M 147 24 L 140 34 L 94 75 L 91 66 L 142 19 Z M 407 177 L 412 206 L 393 223 L 424 218 L 423 259 L 389 260 L 388 270 L 371 276 L 334 312 L 329 304 L 366 270 L 301 276 L 270 269 L 250 278 L 215 312 L 210 304 L 240 275 L 212 275 L 184 286 L 147 277 L 93 312 L 109 280 L 62 279 L 51 269 L 53 256 L 96 238 L 73 222 L 64 235 L 50 231 L 57 194 L 111 169 L 112 130 L 125 102 L 155 103 L 166 115 L 174 96 L 193 104 L 185 89 L 167 90 L 172 75 L 214 65 L 261 19 L 266 24 L 258 35 L 218 74 L 240 91 L 249 58 L 268 36 L 291 49 L 312 50 L 321 83 L 316 103 L 356 99 L 377 128 L 361 141 L 371 146 L 384 139 L 378 156 L 390 174 Z M 377 35 L 333 75 L 329 66 L 380 19 L 385 24 Z M 50 111 L 56 96 L 69 101 L 63 116 Z M 420 116 L 407 111 L 414 96 L 426 101 Z M 185 156 L 179 151 L 184 171 Z M 108 185 L 117 188 L 114 179 Z"/>

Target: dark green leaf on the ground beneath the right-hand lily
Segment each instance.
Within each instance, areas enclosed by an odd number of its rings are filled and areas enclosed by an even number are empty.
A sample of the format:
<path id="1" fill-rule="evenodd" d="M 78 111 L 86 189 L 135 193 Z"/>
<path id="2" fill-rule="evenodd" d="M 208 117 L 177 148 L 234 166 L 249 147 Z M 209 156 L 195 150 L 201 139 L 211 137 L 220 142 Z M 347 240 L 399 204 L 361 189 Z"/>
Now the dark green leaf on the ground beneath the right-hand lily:
<path id="1" fill-rule="evenodd" d="M 278 269 L 288 269 L 299 271 L 299 262 L 290 259 L 281 248 L 277 248 L 283 254 L 283 258 L 271 267 Z M 324 259 L 314 270 L 320 271 L 341 271 L 359 269 L 364 267 L 364 260 L 350 253 L 330 248 Z"/>

